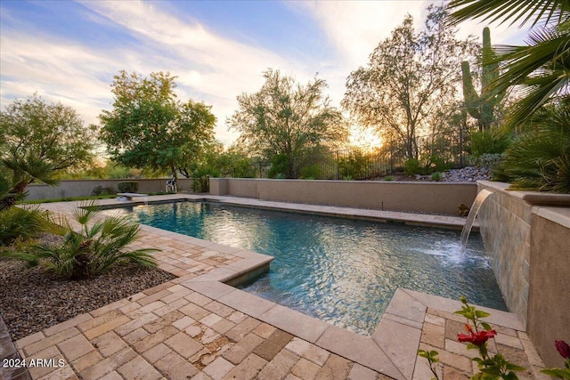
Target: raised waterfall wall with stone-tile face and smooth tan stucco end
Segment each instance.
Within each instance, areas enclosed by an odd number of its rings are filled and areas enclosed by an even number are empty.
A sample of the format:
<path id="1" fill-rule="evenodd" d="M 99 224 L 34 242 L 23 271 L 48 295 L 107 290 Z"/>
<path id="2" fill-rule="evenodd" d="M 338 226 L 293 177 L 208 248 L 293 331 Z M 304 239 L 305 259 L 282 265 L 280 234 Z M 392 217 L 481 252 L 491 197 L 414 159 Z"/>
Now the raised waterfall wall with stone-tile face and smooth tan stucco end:
<path id="1" fill-rule="evenodd" d="M 524 320 L 546 366 L 562 368 L 554 341 L 570 343 L 570 195 L 478 185 L 493 191 L 477 217 L 509 311 Z"/>

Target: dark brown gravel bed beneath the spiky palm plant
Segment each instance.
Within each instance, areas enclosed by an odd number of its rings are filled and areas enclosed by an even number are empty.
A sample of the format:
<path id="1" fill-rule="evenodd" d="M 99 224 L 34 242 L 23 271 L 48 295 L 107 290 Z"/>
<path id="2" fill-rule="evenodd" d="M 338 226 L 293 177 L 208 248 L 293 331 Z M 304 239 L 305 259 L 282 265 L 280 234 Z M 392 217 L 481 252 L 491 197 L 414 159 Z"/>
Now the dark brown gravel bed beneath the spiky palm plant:
<path id="1" fill-rule="evenodd" d="M 12 340 L 155 287 L 175 275 L 124 265 L 93 279 L 58 279 L 41 267 L 0 260 L 0 315 Z"/>

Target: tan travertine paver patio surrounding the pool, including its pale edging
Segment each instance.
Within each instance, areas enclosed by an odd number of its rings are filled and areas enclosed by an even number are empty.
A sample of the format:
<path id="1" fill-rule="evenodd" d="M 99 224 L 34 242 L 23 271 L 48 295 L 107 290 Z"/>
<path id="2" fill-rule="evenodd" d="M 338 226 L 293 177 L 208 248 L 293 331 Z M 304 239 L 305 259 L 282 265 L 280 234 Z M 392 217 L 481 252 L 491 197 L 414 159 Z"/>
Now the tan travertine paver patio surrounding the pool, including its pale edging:
<path id="1" fill-rule="evenodd" d="M 59 212 L 72 206 L 45 205 Z M 159 267 L 179 277 L 17 341 L 23 358 L 64 363 L 29 368 L 33 378 L 428 379 L 418 348 L 440 352 L 440 378 L 473 373 L 474 352 L 456 341 L 464 323 L 452 314 L 458 301 L 399 289 L 375 334 L 360 336 L 221 282 L 267 265 L 269 256 L 148 226 L 136 245 L 161 248 Z M 492 352 L 528 368 L 522 379 L 548 378 L 517 316 L 492 311 L 488 321 L 499 333 Z"/>

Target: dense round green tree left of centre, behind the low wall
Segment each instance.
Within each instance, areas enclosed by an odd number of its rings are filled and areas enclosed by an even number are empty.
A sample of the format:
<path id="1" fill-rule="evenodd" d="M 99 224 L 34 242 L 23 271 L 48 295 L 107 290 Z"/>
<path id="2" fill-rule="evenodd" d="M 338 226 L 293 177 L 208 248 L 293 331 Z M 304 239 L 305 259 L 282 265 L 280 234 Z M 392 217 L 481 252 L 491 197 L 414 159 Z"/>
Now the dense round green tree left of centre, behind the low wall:
<path id="1" fill-rule="evenodd" d="M 216 117 L 201 102 L 176 100 L 175 77 L 141 77 L 120 71 L 114 77 L 113 109 L 100 115 L 100 139 L 112 159 L 127 167 L 167 170 L 174 177 L 214 138 Z"/>

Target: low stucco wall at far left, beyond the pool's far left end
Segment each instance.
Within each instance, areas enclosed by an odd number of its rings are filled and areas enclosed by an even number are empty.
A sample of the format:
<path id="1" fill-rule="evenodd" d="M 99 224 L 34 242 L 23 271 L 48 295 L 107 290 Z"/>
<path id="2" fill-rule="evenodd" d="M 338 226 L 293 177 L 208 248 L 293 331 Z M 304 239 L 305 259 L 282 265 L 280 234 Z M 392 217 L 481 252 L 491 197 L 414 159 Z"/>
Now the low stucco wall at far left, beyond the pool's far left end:
<path id="1" fill-rule="evenodd" d="M 97 187 L 112 187 L 118 191 L 117 184 L 119 182 L 138 182 L 141 193 L 151 193 L 166 190 L 166 182 L 168 178 L 157 179 L 118 179 L 118 180 L 66 180 L 61 181 L 55 186 L 45 184 L 30 184 L 28 190 L 28 200 L 35 199 L 60 199 L 69 197 L 85 197 L 91 195 L 91 192 Z M 179 178 L 177 181 L 178 190 L 191 190 L 192 179 Z"/>

